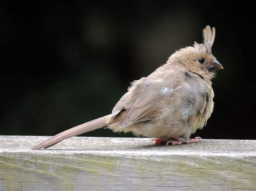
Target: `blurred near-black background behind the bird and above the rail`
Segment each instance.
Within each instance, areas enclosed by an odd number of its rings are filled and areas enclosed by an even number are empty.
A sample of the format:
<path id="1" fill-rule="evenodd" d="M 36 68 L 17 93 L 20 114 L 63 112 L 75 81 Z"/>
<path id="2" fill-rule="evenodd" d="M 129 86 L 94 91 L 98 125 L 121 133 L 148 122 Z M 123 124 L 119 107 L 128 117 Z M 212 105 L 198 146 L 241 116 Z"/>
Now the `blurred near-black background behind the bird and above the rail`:
<path id="1" fill-rule="evenodd" d="M 253 5 L 36 2 L 1 6 L 0 135 L 50 136 L 110 114 L 131 81 L 201 43 L 211 25 L 213 54 L 225 69 L 213 80 L 214 112 L 197 136 L 256 139 Z"/>

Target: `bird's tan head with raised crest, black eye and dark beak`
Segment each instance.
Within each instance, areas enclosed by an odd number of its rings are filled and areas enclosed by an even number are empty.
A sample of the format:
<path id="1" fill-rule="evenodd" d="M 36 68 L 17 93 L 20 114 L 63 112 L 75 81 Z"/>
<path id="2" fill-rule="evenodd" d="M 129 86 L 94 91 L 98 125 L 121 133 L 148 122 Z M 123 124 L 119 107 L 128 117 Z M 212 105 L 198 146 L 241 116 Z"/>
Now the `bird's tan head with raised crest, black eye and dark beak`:
<path id="1" fill-rule="evenodd" d="M 170 60 L 182 64 L 193 73 L 206 79 L 212 79 L 214 72 L 223 69 L 223 66 L 212 54 L 212 45 L 215 38 L 215 28 L 206 26 L 203 30 L 203 43 L 194 43 L 194 46 L 182 48 L 174 53 Z"/>

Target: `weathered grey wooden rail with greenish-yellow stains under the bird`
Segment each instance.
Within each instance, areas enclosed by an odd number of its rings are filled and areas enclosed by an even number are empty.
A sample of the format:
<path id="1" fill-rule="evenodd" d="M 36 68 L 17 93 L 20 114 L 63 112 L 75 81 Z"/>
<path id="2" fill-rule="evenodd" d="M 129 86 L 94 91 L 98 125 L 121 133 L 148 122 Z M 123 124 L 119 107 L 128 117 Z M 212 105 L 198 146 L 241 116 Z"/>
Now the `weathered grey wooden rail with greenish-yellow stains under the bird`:
<path id="1" fill-rule="evenodd" d="M 256 140 L 156 145 L 147 138 L 0 136 L 0 190 L 256 189 Z"/>

